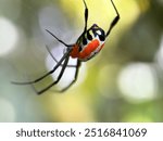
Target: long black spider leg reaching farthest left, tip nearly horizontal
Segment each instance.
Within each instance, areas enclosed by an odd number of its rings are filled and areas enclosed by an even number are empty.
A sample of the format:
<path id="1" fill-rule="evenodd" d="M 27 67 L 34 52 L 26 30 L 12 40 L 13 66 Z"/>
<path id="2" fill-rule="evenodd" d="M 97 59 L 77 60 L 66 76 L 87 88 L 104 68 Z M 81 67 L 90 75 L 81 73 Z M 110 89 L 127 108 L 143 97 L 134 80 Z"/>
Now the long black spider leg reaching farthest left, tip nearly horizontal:
<path id="1" fill-rule="evenodd" d="M 11 82 L 14 84 L 14 85 L 30 85 L 30 84 L 36 84 L 36 82 L 42 80 L 45 77 L 47 77 L 47 76 L 51 75 L 52 73 L 54 73 L 55 69 L 62 64 L 62 62 L 63 62 L 64 60 L 67 60 L 67 59 L 70 57 L 71 51 L 72 51 L 72 48 L 67 50 L 67 52 L 62 56 L 62 59 L 58 62 L 58 64 L 53 67 L 53 69 L 50 70 L 50 72 L 48 72 L 48 73 L 45 74 L 43 76 L 41 76 L 41 77 L 39 77 L 39 78 L 37 78 L 37 79 L 35 79 L 35 80 L 32 80 L 32 81 L 26 81 L 26 82 L 11 81 Z M 64 66 L 64 65 L 63 65 L 63 66 Z M 65 67 L 65 66 L 64 66 L 64 67 Z"/>

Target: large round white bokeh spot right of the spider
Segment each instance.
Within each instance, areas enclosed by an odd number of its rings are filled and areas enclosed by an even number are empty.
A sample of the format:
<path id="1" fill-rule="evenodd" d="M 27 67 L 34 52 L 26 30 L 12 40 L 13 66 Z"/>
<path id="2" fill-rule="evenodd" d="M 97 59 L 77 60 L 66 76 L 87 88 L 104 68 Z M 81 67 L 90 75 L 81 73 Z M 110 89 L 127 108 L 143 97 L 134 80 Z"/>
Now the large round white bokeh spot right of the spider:
<path id="1" fill-rule="evenodd" d="M 141 102 L 155 97 L 156 80 L 150 65 L 134 63 L 120 73 L 118 87 L 127 100 Z"/>

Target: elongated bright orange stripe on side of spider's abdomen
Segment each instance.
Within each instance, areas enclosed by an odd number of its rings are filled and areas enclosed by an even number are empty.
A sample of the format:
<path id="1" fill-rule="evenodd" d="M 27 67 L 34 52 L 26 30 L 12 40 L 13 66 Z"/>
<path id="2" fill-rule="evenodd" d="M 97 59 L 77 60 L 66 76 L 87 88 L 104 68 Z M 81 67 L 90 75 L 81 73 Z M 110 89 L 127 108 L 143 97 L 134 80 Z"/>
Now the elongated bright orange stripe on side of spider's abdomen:
<path id="1" fill-rule="evenodd" d="M 100 46 L 100 42 L 98 39 L 95 39 L 93 41 L 89 42 L 88 46 L 79 52 L 79 59 L 86 59 L 98 47 Z"/>

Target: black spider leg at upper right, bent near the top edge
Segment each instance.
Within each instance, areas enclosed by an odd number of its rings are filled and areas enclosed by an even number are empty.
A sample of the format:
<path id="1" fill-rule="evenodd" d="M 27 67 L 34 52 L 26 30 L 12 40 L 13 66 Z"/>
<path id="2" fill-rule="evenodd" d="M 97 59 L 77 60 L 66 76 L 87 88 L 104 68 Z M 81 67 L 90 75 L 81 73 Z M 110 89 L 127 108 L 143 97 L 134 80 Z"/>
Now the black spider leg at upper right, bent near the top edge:
<path id="1" fill-rule="evenodd" d="M 113 27 L 117 24 L 117 22 L 118 22 L 118 20 L 120 20 L 120 14 L 118 14 L 118 11 L 117 11 L 117 9 L 116 9 L 116 7 L 115 7 L 113 0 L 111 0 L 111 2 L 112 2 L 112 5 L 113 5 L 113 8 L 114 8 L 114 10 L 115 10 L 115 12 L 116 12 L 116 16 L 115 16 L 114 20 L 112 21 L 112 23 L 111 23 L 111 25 L 110 25 L 110 28 L 109 28 L 109 30 L 106 31 L 105 37 L 108 37 L 108 36 L 110 35 L 111 30 L 113 29 Z"/>

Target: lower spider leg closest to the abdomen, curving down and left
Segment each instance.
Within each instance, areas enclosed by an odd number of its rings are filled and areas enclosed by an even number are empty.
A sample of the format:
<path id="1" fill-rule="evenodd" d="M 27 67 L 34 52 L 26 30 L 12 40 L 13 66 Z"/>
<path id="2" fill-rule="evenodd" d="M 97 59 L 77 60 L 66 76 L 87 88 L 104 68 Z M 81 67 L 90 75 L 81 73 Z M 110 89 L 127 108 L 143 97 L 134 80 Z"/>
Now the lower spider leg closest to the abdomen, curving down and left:
<path id="1" fill-rule="evenodd" d="M 58 90 L 58 91 L 55 90 L 57 92 L 64 92 L 64 91 L 66 91 L 71 86 L 73 86 L 73 85 L 75 84 L 75 81 L 77 80 L 77 76 L 78 76 L 78 72 L 79 72 L 80 64 L 82 64 L 82 62 L 80 62 L 79 60 L 77 60 L 77 65 L 76 65 L 76 70 L 75 70 L 74 79 L 72 80 L 72 82 L 71 82 L 67 87 L 63 88 L 62 90 Z"/>

